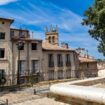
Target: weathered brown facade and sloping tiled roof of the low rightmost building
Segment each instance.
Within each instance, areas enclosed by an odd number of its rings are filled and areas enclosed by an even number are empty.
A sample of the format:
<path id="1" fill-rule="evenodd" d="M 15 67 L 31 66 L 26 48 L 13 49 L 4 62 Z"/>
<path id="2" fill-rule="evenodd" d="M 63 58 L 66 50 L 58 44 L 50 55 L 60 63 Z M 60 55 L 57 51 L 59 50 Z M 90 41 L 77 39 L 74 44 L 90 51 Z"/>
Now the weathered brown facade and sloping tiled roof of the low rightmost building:
<path id="1" fill-rule="evenodd" d="M 79 61 L 79 78 L 89 78 L 98 76 L 97 61 L 95 59 L 89 57 L 79 57 Z"/>

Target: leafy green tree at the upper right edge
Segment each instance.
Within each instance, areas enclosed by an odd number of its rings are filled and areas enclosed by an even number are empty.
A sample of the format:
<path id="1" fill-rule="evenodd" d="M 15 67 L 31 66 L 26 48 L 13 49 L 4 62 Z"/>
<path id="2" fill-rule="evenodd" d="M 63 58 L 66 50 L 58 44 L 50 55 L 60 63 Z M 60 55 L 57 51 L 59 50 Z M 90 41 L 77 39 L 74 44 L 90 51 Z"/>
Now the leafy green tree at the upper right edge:
<path id="1" fill-rule="evenodd" d="M 90 27 L 88 32 L 99 42 L 98 50 L 105 56 L 105 0 L 95 0 L 84 16 L 82 24 Z"/>

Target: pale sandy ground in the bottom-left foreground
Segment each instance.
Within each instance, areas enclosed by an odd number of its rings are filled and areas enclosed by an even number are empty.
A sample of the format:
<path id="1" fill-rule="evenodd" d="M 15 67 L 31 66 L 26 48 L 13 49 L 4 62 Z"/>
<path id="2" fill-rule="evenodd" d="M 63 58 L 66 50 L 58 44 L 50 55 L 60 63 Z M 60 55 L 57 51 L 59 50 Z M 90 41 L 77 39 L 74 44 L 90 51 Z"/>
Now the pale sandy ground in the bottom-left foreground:
<path id="1" fill-rule="evenodd" d="M 34 95 L 26 91 L 9 92 L 0 94 L 0 100 L 8 99 L 11 105 L 68 105 L 62 102 L 57 102 L 53 98 L 48 98 L 41 95 Z"/>

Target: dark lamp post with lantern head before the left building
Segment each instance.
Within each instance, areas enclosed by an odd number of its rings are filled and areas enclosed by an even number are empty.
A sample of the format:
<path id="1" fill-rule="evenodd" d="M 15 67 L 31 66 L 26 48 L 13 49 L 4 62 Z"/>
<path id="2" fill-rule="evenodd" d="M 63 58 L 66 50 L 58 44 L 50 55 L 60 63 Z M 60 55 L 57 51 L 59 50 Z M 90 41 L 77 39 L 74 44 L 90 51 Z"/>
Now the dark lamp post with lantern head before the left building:
<path id="1" fill-rule="evenodd" d="M 18 70 L 17 70 L 17 84 L 20 85 L 20 50 L 24 46 L 24 42 L 21 38 L 19 38 L 17 42 L 17 49 L 18 49 Z"/>

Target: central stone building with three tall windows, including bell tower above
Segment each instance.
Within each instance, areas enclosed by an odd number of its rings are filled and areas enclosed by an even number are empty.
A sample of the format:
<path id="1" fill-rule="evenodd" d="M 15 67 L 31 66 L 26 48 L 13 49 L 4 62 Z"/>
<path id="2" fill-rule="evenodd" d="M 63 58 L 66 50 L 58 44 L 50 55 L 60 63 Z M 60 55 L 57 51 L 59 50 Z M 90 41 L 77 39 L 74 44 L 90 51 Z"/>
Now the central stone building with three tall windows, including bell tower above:
<path id="1" fill-rule="evenodd" d="M 59 46 L 58 28 L 46 29 L 43 48 L 43 71 L 46 79 L 75 78 L 79 66 L 78 54 L 65 43 Z"/>

